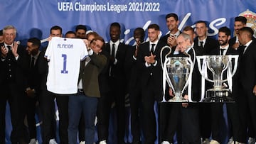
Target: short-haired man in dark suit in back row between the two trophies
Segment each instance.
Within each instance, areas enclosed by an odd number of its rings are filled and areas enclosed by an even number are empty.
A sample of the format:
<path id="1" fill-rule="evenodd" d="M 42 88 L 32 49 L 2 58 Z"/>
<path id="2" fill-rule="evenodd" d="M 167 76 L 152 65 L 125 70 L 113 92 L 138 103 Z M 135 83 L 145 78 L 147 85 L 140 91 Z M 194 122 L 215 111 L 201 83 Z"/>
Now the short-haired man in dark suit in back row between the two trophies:
<path id="1" fill-rule="evenodd" d="M 196 22 L 196 38 L 194 40 L 194 47 L 198 48 L 200 55 L 209 55 L 210 52 L 218 48 L 218 40 L 209 38 L 207 36 L 206 21 Z M 210 87 L 210 84 L 206 82 L 206 87 Z M 207 120 L 206 120 L 207 119 Z M 201 104 L 200 109 L 200 121 L 201 121 L 201 137 L 203 138 L 203 144 L 209 143 L 210 138 L 210 104 Z"/>

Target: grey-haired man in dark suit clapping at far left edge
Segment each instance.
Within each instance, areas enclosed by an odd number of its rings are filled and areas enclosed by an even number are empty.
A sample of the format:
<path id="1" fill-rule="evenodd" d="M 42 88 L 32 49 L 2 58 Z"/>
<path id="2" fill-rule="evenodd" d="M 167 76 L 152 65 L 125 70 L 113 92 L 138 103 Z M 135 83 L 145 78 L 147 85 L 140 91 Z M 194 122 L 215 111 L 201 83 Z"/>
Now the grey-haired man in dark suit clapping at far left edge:
<path id="1" fill-rule="evenodd" d="M 1 47 L 0 60 L 0 143 L 5 143 L 5 112 L 6 101 L 9 101 L 11 111 L 11 143 L 28 143 L 24 126 L 24 98 L 26 91 L 26 77 L 28 62 L 25 58 L 25 48 L 14 42 L 16 28 L 4 27 L 4 43 Z"/>

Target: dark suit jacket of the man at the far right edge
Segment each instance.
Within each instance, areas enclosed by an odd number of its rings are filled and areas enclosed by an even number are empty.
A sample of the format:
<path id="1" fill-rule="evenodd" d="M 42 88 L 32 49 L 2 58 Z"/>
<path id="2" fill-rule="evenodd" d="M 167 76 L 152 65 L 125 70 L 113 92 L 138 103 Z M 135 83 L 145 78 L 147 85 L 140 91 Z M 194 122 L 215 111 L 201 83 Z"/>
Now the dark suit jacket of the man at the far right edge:
<path id="1" fill-rule="evenodd" d="M 252 41 L 240 57 L 239 77 L 242 87 L 252 92 L 256 85 L 256 43 Z"/>

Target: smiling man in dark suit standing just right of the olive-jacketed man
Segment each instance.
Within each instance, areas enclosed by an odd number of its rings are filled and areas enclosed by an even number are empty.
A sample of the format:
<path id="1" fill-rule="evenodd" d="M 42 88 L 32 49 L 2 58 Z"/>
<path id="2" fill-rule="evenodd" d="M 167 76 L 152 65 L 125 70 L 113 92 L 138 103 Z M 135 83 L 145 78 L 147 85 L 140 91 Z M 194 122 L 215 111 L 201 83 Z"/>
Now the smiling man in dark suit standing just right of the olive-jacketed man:
<path id="1" fill-rule="evenodd" d="M 126 57 L 128 45 L 121 43 L 119 38 L 121 34 L 121 26 L 119 23 L 111 23 L 110 25 L 110 43 L 106 45 L 106 52 L 110 54 L 110 62 L 108 65 L 109 77 L 108 81 L 110 84 L 110 93 L 108 94 L 109 99 L 115 102 L 117 110 L 117 143 L 124 143 L 125 134 L 125 106 L 124 106 L 124 95 L 125 95 L 125 70 L 124 62 Z M 111 104 L 109 104 L 110 109 Z M 108 111 L 107 109 L 102 110 Z M 107 113 L 110 114 L 110 113 Z M 101 143 L 107 142 L 108 137 L 108 121 L 109 119 L 99 119 L 99 123 L 105 125 L 98 128 L 99 140 Z M 105 121 L 102 123 L 102 121 Z M 107 126 L 106 126 L 107 125 Z"/>

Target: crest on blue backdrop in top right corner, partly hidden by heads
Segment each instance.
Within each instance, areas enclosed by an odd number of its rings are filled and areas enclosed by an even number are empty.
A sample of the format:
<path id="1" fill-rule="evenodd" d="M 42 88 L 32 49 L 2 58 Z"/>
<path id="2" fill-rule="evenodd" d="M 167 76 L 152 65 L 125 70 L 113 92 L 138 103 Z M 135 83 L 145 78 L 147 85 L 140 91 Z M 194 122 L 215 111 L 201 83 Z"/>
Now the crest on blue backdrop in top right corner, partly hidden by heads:
<path id="1" fill-rule="evenodd" d="M 244 16 L 247 19 L 246 26 L 252 28 L 254 31 L 253 36 L 256 38 L 256 13 L 247 9 L 246 11 L 240 13 L 239 16 Z"/>

